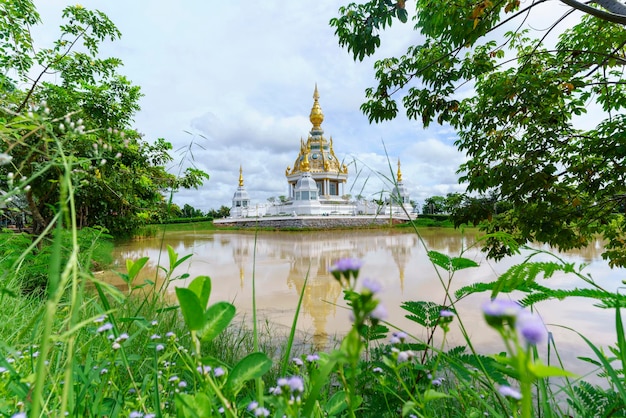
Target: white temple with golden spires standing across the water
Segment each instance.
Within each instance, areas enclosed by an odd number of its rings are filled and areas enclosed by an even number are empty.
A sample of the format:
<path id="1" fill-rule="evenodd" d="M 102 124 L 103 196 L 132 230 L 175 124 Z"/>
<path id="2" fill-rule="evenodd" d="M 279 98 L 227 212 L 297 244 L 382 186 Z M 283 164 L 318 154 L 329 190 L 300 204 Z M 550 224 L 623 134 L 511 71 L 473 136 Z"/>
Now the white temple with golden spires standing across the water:
<path id="1" fill-rule="evenodd" d="M 317 85 L 309 115 L 313 127 L 306 142 L 300 138 L 300 150 L 293 167 L 288 166 L 285 177 L 288 196 L 277 204 L 251 205 L 244 187 L 243 169 L 239 168 L 239 187 L 230 210 L 231 218 L 260 216 L 331 216 L 331 215 L 404 215 L 412 213 L 410 196 L 402 182 L 400 161 L 396 184 L 383 204 L 374 201 L 350 201 L 346 194 L 348 167 L 335 155 L 333 139 L 324 136 L 324 114 L 319 104 Z"/>

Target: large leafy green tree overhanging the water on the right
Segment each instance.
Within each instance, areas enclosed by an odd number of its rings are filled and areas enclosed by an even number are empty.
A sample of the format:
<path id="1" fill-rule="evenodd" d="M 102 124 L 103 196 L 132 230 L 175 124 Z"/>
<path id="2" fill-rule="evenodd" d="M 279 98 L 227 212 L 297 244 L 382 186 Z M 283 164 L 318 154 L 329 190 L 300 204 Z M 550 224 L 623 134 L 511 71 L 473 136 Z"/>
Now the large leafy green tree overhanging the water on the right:
<path id="1" fill-rule="evenodd" d="M 371 122 L 389 120 L 400 102 L 425 127 L 450 124 L 468 156 L 460 181 L 510 204 L 497 216 L 483 213 L 486 231 L 561 249 L 601 234 L 603 256 L 626 265 L 626 222 L 618 213 L 626 200 L 626 11 L 617 0 L 594 2 L 610 12 L 562 3 L 570 8 L 560 7 L 564 15 L 536 33 L 527 29 L 534 18 L 554 13 L 542 9 L 546 1 L 415 2 L 419 42 L 375 63 L 377 85 L 361 109 Z M 565 25 L 565 16 L 574 23 Z M 340 8 L 331 25 L 363 60 L 395 19 L 408 20 L 404 0 L 372 0 Z M 495 239 L 486 243 L 492 257 L 508 253 Z"/>

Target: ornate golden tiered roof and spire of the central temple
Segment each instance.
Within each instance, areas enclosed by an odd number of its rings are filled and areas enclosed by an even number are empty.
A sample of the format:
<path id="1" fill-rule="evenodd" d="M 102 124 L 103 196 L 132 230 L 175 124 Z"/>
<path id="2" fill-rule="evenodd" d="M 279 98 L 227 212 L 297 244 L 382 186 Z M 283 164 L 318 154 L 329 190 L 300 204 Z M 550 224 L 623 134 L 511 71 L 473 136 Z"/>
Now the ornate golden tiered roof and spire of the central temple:
<path id="1" fill-rule="evenodd" d="M 333 150 L 333 138 L 326 139 L 326 137 L 324 137 L 324 130 L 322 129 L 324 113 L 319 103 L 319 97 L 320 95 L 316 84 L 315 91 L 313 92 L 313 107 L 309 114 L 309 120 L 313 127 L 309 132 L 306 142 L 300 138 L 300 152 L 293 166 L 287 167 L 287 170 L 285 170 L 287 177 L 303 172 L 310 172 L 312 174 L 322 173 L 333 177 L 337 177 L 338 175 L 345 177 L 345 175 L 348 174 L 348 167 L 342 164 L 335 155 L 335 151 Z"/>

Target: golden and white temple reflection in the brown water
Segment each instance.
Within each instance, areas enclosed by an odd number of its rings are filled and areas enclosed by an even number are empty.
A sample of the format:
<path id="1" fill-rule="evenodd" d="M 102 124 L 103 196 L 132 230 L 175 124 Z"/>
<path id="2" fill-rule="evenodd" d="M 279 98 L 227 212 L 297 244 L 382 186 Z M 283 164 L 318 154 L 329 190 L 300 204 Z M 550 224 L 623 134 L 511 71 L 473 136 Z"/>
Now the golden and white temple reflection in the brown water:
<path id="1" fill-rule="evenodd" d="M 396 263 L 400 286 L 403 287 L 406 264 L 412 249 L 417 245 L 414 234 L 386 234 L 381 231 L 373 232 L 367 237 L 363 234 L 329 235 L 325 232 L 259 234 L 256 238 L 252 234 L 229 236 L 233 261 L 240 272 L 242 290 L 246 273 L 254 268 L 254 251 L 257 263 L 268 259 L 284 260 L 288 263 L 285 283 L 296 298 L 306 283 L 302 313 L 312 319 L 314 343 L 318 346 L 328 342 L 329 319 L 344 315 L 342 308 L 338 308 L 345 306 L 343 293 L 339 283 L 329 273 L 331 266 L 340 258 L 363 258 L 367 253 L 386 249 Z M 345 316 L 348 316 L 347 311 Z"/>

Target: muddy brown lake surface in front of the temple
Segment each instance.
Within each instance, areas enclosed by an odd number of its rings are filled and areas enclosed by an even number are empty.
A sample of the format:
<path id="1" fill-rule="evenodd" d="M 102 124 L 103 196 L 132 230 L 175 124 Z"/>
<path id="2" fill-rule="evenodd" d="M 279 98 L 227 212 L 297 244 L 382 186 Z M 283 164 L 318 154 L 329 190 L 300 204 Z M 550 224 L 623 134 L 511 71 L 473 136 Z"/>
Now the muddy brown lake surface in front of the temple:
<path id="1" fill-rule="evenodd" d="M 388 321 L 409 334 L 425 338 L 419 325 L 404 318 L 407 312 L 400 308 L 400 304 L 419 300 L 443 302 L 441 280 L 447 283 L 448 273 L 439 271 L 441 279 L 438 277 L 427 251 L 435 250 L 453 257 L 463 252 L 464 257 L 480 265 L 457 272 L 451 280 L 452 291 L 468 284 L 495 280 L 528 254 L 525 252 L 494 262 L 487 260 L 475 246 L 473 233 L 463 236 L 451 229 L 422 229 L 420 233 L 423 242 L 414 232 L 398 230 L 259 232 L 257 235 L 239 231 L 168 232 L 164 239 L 158 237 L 119 244 L 115 258 L 117 267 L 122 269 L 126 259 L 150 257 L 148 269 L 141 278 L 154 279 L 159 254 L 167 245 L 172 246 L 180 257 L 193 254 L 178 268 L 178 275 L 188 273 L 188 280 L 198 275 L 210 276 L 213 288 L 210 302 L 230 301 L 237 307 L 239 315 L 248 317 L 252 311 L 254 277 L 259 315 L 277 327 L 285 327 L 285 332 L 291 326 L 300 292 L 308 280 L 298 328 L 312 335 L 315 344 L 323 346 L 329 338 L 342 335 L 350 328 L 349 311 L 341 288 L 328 273 L 339 258 L 362 259 L 360 278 L 367 277 L 383 285 L 381 299 L 389 313 Z M 615 290 L 626 279 L 625 270 L 609 268 L 601 253 L 602 243 L 598 240 L 583 250 L 559 256 L 568 262 L 587 264 L 585 274 L 591 275 L 605 289 Z M 537 258 L 549 259 L 547 255 Z M 160 264 L 168 265 L 166 251 L 161 255 Z M 572 275 L 563 274 L 555 274 L 541 282 L 558 288 L 589 286 Z M 185 283 L 183 280 L 171 283 L 168 291 L 172 297 L 175 297 L 174 287 L 183 287 Z M 504 347 L 482 317 L 480 305 L 487 298 L 487 294 L 471 295 L 459 302 L 457 309 L 472 342 L 481 351 L 495 353 Z M 597 345 L 611 345 L 615 341 L 614 311 L 594 308 L 591 300 L 547 301 L 536 307 L 553 334 L 559 354 L 568 363 L 576 356 L 592 357 L 593 354 L 576 333 L 563 327 L 575 328 Z M 461 344 L 458 321 L 455 320 L 454 324 L 448 341 Z M 578 366 L 572 369 L 577 370 Z"/>

